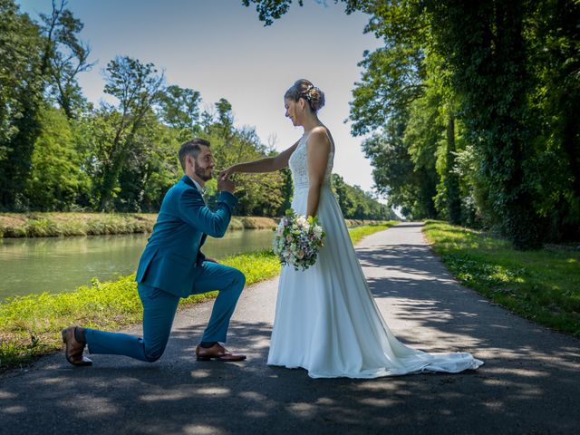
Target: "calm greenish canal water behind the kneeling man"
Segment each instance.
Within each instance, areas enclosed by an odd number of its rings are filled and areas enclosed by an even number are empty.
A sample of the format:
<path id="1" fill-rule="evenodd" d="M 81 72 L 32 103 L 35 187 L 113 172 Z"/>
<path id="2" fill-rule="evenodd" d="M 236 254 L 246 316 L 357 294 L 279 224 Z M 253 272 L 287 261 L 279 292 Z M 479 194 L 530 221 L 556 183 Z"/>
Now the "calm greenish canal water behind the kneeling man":
<path id="1" fill-rule="evenodd" d="M 228 231 L 220 239 L 208 237 L 203 252 L 223 258 L 271 247 L 269 229 Z M 137 268 L 149 235 L 44 237 L 0 239 L 0 300 L 13 295 L 72 291 Z"/>

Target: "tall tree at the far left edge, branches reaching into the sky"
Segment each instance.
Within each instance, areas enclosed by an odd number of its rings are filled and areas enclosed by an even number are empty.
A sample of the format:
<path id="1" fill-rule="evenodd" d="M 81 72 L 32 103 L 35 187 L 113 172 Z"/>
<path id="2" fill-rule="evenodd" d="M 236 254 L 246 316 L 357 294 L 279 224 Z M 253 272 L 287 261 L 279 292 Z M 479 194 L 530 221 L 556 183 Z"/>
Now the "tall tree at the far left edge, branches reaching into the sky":
<path id="1" fill-rule="evenodd" d="M 76 34 L 82 24 L 53 2 L 53 13 L 41 14 L 43 26 L 20 14 L 12 0 L 0 1 L 0 204 L 25 208 L 25 189 L 32 177 L 34 144 L 43 135 L 44 92 L 56 96 L 69 118 L 84 102 L 75 81 L 86 70 L 89 50 Z M 64 54 L 67 47 L 69 54 Z M 73 58 L 78 63 L 73 63 Z M 48 86 L 48 88 L 47 88 Z M 45 117 L 44 117 L 45 121 Z M 37 154 L 38 155 L 38 154 Z M 34 203 L 34 201 L 33 201 Z M 35 206 L 36 207 L 36 206 Z"/>

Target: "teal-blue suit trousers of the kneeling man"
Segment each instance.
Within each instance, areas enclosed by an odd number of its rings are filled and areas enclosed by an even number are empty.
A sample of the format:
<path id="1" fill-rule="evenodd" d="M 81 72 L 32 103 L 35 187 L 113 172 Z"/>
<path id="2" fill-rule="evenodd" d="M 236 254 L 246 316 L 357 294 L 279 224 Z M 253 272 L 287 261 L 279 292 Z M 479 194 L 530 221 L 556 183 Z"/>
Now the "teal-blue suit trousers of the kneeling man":
<path id="1" fill-rule="evenodd" d="M 229 319 L 244 289 L 246 277 L 239 270 L 204 262 L 191 289 L 191 295 L 218 290 L 218 297 L 203 333 L 202 342 L 226 342 Z M 90 353 L 126 355 L 141 361 L 157 361 L 169 340 L 171 325 L 179 304 L 179 296 L 149 285 L 137 285 L 143 304 L 143 337 L 127 333 L 106 333 L 85 329 L 84 338 Z"/>

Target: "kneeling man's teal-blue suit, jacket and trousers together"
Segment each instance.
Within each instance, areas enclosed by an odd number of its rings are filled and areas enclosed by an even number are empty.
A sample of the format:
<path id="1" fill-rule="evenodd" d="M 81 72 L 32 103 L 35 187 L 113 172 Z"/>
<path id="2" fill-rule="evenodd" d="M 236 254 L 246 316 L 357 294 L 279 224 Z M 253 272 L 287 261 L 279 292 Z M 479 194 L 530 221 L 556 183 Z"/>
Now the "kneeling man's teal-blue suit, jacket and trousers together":
<path id="1" fill-rule="evenodd" d="M 226 342 L 229 319 L 246 283 L 237 269 L 206 262 L 199 250 L 208 236 L 223 237 L 237 198 L 223 191 L 210 210 L 186 175 L 163 198 L 136 280 L 143 304 L 143 337 L 85 330 L 91 353 L 112 353 L 153 362 L 169 340 L 180 297 L 218 290 L 203 342 Z"/>

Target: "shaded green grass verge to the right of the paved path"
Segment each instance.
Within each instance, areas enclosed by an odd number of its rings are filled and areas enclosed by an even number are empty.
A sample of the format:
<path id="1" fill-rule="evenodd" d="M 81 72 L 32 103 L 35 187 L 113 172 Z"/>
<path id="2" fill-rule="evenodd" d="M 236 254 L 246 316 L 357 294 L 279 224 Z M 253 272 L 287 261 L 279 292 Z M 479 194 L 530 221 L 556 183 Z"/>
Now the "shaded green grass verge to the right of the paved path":
<path id="1" fill-rule="evenodd" d="M 580 252 L 517 251 L 506 240 L 427 221 L 425 236 L 459 281 L 514 313 L 580 337 Z"/>

